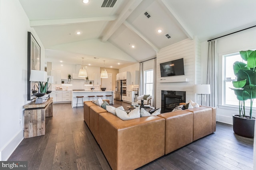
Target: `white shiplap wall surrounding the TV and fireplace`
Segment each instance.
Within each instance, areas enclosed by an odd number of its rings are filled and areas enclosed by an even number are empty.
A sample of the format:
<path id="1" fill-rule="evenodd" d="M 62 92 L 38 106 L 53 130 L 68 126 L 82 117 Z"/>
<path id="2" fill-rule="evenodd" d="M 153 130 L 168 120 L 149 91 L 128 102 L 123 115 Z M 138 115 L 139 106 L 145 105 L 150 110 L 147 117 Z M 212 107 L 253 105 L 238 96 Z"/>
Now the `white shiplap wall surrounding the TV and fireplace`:
<path id="1" fill-rule="evenodd" d="M 156 107 L 161 107 L 161 90 L 186 91 L 186 102 L 190 99 L 195 100 L 194 84 L 200 84 L 201 63 L 200 63 L 201 45 L 195 38 L 194 40 L 185 39 L 174 45 L 161 49 L 157 54 L 157 73 L 156 73 Z M 160 63 L 176 59 L 184 59 L 185 75 L 170 76 L 164 78 L 161 82 Z"/>

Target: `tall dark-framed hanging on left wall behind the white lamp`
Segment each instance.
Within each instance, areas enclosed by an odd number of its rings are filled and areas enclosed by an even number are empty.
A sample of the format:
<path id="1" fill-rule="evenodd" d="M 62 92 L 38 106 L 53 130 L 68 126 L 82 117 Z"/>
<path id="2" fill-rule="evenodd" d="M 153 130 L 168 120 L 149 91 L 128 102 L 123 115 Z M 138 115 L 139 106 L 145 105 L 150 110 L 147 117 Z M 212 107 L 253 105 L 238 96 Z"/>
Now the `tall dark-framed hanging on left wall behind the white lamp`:
<path id="1" fill-rule="evenodd" d="M 30 70 L 40 70 L 41 47 L 31 32 L 28 32 L 28 100 L 36 98 L 32 94 L 36 82 L 30 82 Z"/>

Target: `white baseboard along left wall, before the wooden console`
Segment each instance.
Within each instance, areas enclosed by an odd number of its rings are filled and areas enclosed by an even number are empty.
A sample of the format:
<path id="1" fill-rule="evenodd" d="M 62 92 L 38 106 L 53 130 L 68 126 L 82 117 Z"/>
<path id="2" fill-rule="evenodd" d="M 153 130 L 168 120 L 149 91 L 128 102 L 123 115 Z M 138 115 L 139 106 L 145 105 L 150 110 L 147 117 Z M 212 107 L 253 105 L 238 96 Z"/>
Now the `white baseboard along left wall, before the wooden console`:
<path id="1" fill-rule="evenodd" d="M 24 139 L 23 129 L 0 151 L 0 161 L 6 161 Z"/>

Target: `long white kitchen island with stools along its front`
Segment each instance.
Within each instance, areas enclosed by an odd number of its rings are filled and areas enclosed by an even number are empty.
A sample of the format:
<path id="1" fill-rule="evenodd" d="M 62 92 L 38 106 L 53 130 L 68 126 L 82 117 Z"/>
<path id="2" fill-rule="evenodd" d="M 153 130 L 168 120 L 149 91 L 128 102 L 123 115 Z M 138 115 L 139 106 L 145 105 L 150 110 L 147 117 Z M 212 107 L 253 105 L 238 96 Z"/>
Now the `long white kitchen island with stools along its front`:
<path id="1" fill-rule="evenodd" d="M 72 91 L 72 107 L 76 107 L 76 102 L 77 102 L 77 98 L 76 96 L 84 96 L 83 101 L 89 101 L 88 96 L 95 96 L 94 100 L 97 99 L 96 96 L 103 96 L 103 99 L 106 99 L 106 95 L 112 95 L 111 96 L 111 101 L 113 102 L 112 104 L 114 104 L 114 91 L 101 91 L 101 90 L 73 90 Z M 92 100 L 92 99 L 90 99 Z M 82 99 L 78 98 L 78 105 L 77 106 L 84 106 L 82 104 Z"/>

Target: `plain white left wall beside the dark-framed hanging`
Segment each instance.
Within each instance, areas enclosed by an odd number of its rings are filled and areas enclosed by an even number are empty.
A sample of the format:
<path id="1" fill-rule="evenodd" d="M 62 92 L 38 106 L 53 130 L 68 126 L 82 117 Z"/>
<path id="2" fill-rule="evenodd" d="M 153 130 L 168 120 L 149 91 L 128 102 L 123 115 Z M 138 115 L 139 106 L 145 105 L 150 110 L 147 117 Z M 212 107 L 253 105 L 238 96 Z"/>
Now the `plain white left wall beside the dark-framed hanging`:
<path id="1" fill-rule="evenodd" d="M 7 160 L 24 137 L 20 124 L 27 101 L 27 31 L 41 47 L 44 70 L 44 47 L 30 28 L 18 0 L 0 1 L 0 160 Z"/>

